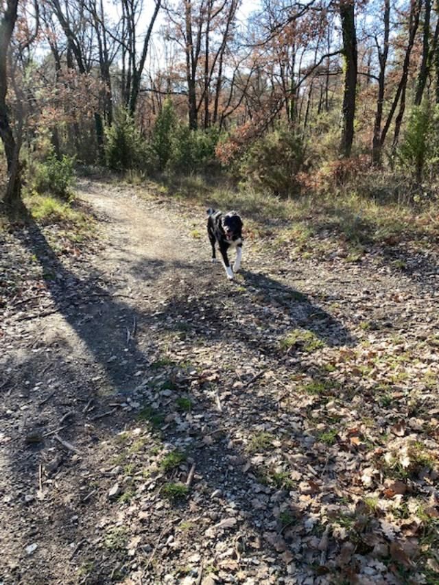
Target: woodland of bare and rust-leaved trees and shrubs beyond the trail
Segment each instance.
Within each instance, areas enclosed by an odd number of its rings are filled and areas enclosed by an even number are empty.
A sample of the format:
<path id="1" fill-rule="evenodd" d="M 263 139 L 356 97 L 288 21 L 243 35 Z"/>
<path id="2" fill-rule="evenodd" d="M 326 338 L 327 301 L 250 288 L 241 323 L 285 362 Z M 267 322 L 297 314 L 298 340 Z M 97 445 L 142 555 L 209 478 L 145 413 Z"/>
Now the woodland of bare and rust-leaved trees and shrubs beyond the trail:
<path id="1" fill-rule="evenodd" d="M 430 204 L 438 6 L 241 4 L 3 1 L 5 203 L 23 185 L 67 197 L 73 167 L 99 165 L 137 181 L 198 174 L 282 197 Z"/>

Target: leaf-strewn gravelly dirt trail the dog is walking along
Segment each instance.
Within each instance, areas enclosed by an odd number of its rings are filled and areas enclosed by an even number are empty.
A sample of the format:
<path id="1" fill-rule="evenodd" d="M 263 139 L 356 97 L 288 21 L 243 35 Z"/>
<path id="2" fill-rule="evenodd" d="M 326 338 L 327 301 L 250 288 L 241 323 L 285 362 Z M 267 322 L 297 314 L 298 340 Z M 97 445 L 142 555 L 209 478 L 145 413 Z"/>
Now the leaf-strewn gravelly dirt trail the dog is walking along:
<path id="1" fill-rule="evenodd" d="M 49 277 L 43 304 L 5 312 L 0 582 L 399 583 L 372 555 L 379 513 L 349 550 L 337 518 L 380 493 L 379 473 L 360 478 L 414 416 L 407 385 L 434 416 L 434 349 L 396 358 L 429 337 L 437 298 L 373 255 L 292 261 L 260 241 L 228 283 L 203 210 L 97 181 L 80 196 L 94 256 L 19 238 Z"/>

